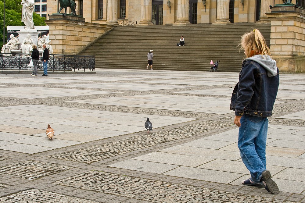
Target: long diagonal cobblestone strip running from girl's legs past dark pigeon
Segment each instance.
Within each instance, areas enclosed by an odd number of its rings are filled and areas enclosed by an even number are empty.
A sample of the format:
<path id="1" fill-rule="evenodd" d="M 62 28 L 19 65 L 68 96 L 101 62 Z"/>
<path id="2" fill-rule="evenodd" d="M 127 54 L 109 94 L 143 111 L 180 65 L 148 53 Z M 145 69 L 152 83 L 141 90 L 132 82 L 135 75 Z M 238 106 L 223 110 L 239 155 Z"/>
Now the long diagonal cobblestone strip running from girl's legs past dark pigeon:
<path id="1" fill-rule="evenodd" d="M 137 149 L 147 148 L 157 144 L 190 137 L 202 132 L 219 129 L 230 125 L 233 125 L 231 121 L 205 121 L 200 123 L 192 123 L 190 125 L 177 127 L 170 130 L 164 130 L 148 135 L 129 137 L 120 141 L 99 144 L 49 157 L 90 164 L 92 162 L 124 154 Z"/>

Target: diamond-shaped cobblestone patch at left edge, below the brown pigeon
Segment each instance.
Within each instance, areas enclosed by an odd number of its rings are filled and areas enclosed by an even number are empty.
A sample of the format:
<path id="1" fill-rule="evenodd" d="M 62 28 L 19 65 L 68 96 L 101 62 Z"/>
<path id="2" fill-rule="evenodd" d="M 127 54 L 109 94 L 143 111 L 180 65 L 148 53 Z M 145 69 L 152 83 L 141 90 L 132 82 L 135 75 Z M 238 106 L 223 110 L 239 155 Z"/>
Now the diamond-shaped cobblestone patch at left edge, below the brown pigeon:
<path id="1" fill-rule="evenodd" d="M 0 173 L 19 176 L 23 179 L 34 180 L 43 176 L 68 170 L 70 167 L 54 163 L 28 160 L 0 168 Z"/>

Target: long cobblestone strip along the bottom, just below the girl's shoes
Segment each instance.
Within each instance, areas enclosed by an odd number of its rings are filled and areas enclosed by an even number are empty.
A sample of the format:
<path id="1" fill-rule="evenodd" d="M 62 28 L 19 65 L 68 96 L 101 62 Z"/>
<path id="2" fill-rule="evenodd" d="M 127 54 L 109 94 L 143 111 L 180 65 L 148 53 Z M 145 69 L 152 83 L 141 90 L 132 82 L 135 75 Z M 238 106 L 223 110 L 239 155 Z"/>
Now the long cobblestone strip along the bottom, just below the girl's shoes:
<path id="1" fill-rule="evenodd" d="M 101 171 L 89 171 L 56 181 L 55 184 L 103 192 L 122 197 L 156 203 L 163 202 L 283 202 L 272 198 L 256 197 L 217 191 L 203 187 L 174 184 L 156 180 L 122 176 Z"/>

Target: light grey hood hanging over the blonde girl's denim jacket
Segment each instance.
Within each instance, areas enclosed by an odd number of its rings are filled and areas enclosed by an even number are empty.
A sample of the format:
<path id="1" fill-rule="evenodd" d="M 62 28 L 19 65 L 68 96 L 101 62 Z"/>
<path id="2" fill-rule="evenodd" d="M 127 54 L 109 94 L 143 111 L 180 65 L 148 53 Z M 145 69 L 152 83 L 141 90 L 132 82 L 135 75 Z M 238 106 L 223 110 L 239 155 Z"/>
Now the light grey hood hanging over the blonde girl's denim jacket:
<path id="1" fill-rule="evenodd" d="M 244 61 L 255 61 L 258 64 L 260 64 L 262 67 L 264 67 L 268 73 L 268 77 L 273 77 L 276 76 L 276 74 L 278 73 L 277 68 L 276 68 L 276 61 L 274 61 L 273 59 L 271 59 L 271 57 L 269 55 L 254 55 L 250 58 L 246 58 L 244 59 L 242 62 Z"/>

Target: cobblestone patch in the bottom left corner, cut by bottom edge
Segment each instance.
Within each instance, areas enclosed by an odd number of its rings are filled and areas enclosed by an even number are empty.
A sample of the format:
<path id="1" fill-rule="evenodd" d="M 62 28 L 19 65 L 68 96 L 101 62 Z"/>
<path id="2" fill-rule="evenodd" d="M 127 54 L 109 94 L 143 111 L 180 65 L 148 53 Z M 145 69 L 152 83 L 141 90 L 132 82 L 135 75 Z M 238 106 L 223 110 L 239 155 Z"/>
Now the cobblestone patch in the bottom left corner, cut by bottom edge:
<path id="1" fill-rule="evenodd" d="M 3 203 L 97 203 L 97 201 L 85 200 L 76 197 L 65 196 L 63 194 L 56 194 L 43 190 L 26 190 L 16 194 L 11 194 L 0 198 Z"/>

